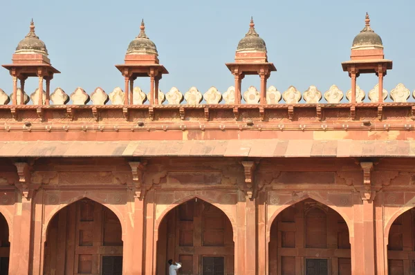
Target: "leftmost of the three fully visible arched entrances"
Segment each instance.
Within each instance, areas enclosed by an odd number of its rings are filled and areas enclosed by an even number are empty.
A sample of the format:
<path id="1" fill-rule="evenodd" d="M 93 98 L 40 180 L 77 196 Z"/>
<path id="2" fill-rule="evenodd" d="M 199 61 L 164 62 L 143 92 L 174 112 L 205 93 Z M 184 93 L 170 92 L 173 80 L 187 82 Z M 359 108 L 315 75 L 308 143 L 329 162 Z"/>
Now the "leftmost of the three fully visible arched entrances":
<path id="1" fill-rule="evenodd" d="M 44 274 L 122 274 L 120 220 L 104 205 L 84 198 L 50 220 Z"/>

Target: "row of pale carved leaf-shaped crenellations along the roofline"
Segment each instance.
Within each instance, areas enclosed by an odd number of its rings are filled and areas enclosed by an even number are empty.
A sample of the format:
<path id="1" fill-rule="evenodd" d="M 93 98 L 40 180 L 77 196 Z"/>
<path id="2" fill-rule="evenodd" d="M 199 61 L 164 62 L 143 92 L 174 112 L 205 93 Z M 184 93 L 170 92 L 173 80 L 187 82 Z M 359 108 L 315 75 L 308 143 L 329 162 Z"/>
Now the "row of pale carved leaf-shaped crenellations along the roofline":
<path id="1" fill-rule="evenodd" d="M 125 95 L 124 91 L 120 87 L 116 87 L 109 94 L 98 87 L 95 88 L 91 95 L 88 95 L 84 89 L 78 87 L 68 95 L 62 90 L 62 88 L 56 88 L 55 91 L 50 95 L 50 104 L 53 105 L 85 105 L 91 100 L 93 105 L 106 105 L 110 102 L 111 105 L 124 105 L 125 97 L 133 97 L 132 105 L 143 105 L 150 99 L 150 93 L 145 93 L 138 86 L 133 88 L 133 91 L 130 92 L 130 95 Z M 351 102 L 351 89 L 347 91 L 346 98 L 348 102 Z M 17 102 L 20 102 L 20 98 L 23 94 L 24 104 L 32 102 L 33 105 L 37 105 L 39 102 L 39 88 L 37 88 L 33 93 L 30 94 L 30 97 L 22 91 L 21 88 L 17 88 Z M 409 89 L 403 84 L 398 84 L 393 88 L 390 93 L 383 88 L 382 89 L 382 99 L 383 102 L 387 97 L 393 102 L 407 102 L 411 96 Z M 0 89 L 0 105 L 8 105 L 12 102 L 12 94 L 8 95 L 5 91 Z M 286 104 L 338 104 L 342 101 L 344 93 L 338 88 L 338 86 L 332 85 L 326 92 L 322 93 L 316 86 L 309 86 L 306 91 L 301 93 L 295 88 L 295 86 L 290 86 L 281 93 L 277 90 L 275 86 L 269 86 L 266 90 L 266 104 L 273 105 L 279 104 L 282 99 Z M 259 104 L 261 102 L 261 94 L 255 88 L 255 86 L 250 86 L 248 90 L 241 93 L 239 97 L 242 99 L 245 104 Z M 324 97 L 324 101 L 322 99 Z M 376 84 L 369 93 L 363 91 L 358 85 L 356 85 L 356 103 L 377 103 L 379 97 L 379 84 Z M 412 97 L 415 98 L 415 91 L 412 93 Z M 368 98 L 369 100 L 365 99 Z M 186 93 L 181 93 L 178 88 L 173 87 L 169 90 L 168 93 L 164 94 L 160 89 L 158 89 L 158 104 L 166 103 L 170 105 L 178 104 L 188 104 L 188 105 L 199 105 L 199 104 L 235 104 L 237 102 L 237 95 L 235 95 L 234 86 L 230 86 L 227 91 L 221 93 L 214 86 L 210 87 L 205 93 L 201 93 L 196 87 L 191 87 Z M 204 102 L 203 102 L 204 100 Z M 43 91 L 42 101 L 46 103 L 46 92 Z M 71 103 L 69 103 L 71 101 Z"/>

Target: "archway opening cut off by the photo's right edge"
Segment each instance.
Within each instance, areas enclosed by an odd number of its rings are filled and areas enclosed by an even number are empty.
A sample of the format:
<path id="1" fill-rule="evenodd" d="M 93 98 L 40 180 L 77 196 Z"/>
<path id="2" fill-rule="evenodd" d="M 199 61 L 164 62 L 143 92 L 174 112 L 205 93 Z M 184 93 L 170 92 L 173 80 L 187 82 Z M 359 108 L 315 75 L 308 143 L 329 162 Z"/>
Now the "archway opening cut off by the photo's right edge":
<path id="1" fill-rule="evenodd" d="M 387 244 L 388 273 L 391 275 L 415 272 L 415 209 L 409 209 L 394 220 L 389 229 Z"/>

